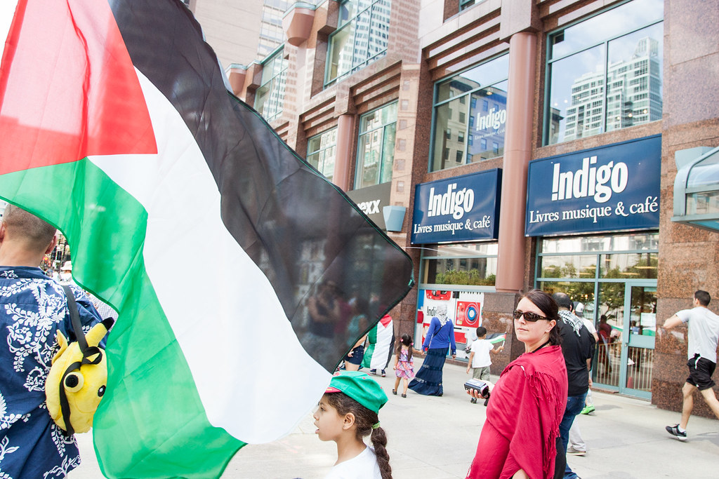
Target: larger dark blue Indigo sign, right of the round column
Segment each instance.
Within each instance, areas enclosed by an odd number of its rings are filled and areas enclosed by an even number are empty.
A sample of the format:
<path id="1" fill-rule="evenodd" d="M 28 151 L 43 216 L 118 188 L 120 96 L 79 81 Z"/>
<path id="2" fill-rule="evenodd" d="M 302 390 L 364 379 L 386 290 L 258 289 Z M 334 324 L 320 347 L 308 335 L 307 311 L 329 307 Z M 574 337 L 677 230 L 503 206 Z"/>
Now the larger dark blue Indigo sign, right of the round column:
<path id="1" fill-rule="evenodd" d="M 661 136 L 529 162 L 526 236 L 659 227 Z"/>

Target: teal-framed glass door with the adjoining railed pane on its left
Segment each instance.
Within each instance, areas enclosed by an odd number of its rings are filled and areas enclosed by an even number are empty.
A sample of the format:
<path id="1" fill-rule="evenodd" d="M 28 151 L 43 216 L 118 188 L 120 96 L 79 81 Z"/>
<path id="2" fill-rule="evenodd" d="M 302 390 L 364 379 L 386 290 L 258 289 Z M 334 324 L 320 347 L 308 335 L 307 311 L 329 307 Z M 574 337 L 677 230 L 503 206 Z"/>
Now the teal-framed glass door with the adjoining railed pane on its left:
<path id="1" fill-rule="evenodd" d="M 622 394 L 651 398 L 656 281 L 598 285 L 597 353 L 592 379 Z"/>

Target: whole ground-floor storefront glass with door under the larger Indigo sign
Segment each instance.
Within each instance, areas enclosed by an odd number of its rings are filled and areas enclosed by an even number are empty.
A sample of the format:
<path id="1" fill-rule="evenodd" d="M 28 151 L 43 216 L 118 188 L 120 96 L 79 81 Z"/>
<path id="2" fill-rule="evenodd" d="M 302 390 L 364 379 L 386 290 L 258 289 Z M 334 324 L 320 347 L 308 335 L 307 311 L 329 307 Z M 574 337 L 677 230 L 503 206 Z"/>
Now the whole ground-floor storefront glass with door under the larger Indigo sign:
<path id="1" fill-rule="evenodd" d="M 593 381 L 643 398 L 651 396 L 658 247 L 656 232 L 544 238 L 537 255 L 536 287 L 584 304 L 597 328 Z"/>

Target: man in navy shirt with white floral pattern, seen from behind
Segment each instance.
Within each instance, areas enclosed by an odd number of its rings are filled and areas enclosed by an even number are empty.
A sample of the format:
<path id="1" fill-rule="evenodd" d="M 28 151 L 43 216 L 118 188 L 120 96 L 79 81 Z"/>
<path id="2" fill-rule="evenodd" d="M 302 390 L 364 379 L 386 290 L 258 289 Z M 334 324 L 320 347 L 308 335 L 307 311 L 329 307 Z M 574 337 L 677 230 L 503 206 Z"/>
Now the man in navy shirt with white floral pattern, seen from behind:
<path id="1" fill-rule="evenodd" d="M 73 436 L 50 418 L 45 380 L 58 330 L 75 334 L 63 287 L 37 267 L 55 228 L 7 205 L 0 224 L 0 478 L 64 478 L 80 464 Z M 84 332 L 100 316 L 73 287 Z"/>

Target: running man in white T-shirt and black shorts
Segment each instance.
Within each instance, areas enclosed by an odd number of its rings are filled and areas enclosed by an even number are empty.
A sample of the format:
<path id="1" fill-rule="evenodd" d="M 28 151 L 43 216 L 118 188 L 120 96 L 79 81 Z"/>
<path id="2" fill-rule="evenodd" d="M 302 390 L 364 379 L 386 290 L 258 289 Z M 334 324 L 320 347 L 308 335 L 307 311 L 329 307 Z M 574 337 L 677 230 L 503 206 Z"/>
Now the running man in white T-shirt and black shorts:
<path id="1" fill-rule="evenodd" d="M 702 397 L 719 418 L 719 401 L 714 394 L 715 385 L 712 374 L 717 366 L 717 343 L 719 342 L 719 316 L 707 309 L 711 296 L 701 289 L 694 294 L 691 310 L 681 310 L 664 321 L 664 329 L 671 330 L 686 322 L 689 328 L 687 355 L 689 377 L 682 387 L 682 422 L 667 426 L 667 432 L 680 441 L 687 440 L 687 423 L 694 409 L 694 391 L 699 390 Z"/>

